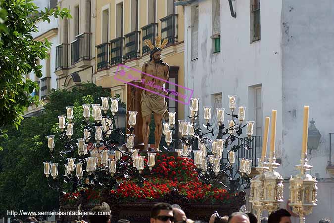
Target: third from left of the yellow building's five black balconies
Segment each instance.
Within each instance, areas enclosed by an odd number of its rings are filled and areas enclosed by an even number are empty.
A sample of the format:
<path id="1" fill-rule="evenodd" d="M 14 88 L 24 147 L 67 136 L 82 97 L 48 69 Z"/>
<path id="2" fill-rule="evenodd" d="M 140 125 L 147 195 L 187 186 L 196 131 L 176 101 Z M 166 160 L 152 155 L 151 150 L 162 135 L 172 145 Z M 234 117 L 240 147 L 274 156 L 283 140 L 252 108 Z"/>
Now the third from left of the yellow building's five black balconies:
<path id="1" fill-rule="evenodd" d="M 125 60 L 138 58 L 140 32 L 134 31 L 124 35 L 125 37 Z"/>

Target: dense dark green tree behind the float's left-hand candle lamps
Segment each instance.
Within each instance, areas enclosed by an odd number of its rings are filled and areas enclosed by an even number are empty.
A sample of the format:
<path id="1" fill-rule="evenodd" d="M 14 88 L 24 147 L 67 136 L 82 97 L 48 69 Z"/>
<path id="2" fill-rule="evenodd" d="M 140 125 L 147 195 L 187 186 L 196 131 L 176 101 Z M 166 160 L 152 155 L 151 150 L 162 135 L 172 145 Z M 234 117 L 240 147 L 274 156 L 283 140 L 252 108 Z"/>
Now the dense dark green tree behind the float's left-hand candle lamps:
<path id="1" fill-rule="evenodd" d="M 61 145 L 57 134 L 58 115 L 66 115 L 66 106 L 74 106 L 74 134 L 72 139 L 83 137 L 82 104 L 101 104 L 100 97 L 110 91 L 87 83 L 71 91 L 52 90 L 44 112 L 38 117 L 26 118 L 18 130 L 8 129 L 8 140 L 0 146 L 0 216 L 7 210 L 49 211 L 58 209 L 58 194 L 48 187 L 43 161 L 50 161 L 47 135 L 56 135 L 55 145 Z M 124 103 L 119 104 L 124 106 Z M 110 112 L 110 110 L 109 110 Z M 76 157 L 78 152 L 73 152 Z M 55 162 L 56 160 L 52 160 Z M 64 167 L 59 166 L 59 174 Z"/>

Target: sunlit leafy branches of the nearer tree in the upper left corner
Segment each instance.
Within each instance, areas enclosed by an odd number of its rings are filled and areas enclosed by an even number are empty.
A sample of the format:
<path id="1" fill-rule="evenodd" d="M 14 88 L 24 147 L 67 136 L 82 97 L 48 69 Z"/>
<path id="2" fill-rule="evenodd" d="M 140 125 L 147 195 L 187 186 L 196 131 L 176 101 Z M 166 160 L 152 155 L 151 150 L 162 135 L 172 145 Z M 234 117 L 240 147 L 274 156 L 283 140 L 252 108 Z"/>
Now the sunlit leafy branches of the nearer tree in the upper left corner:
<path id="1" fill-rule="evenodd" d="M 49 17 L 70 17 L 66 8 L 39 11 L 33 0 L 0 0 L 0 128 L 18 127 L 23 112 L 38 96 L 31 96 L 37 82 L 26 78 L 34 72 L 42 77 L 42 66 L 37 59 L 46 59 L 51 43 L 36 41 L 38 21 L 50 22 Z M 3 132 L 0 131 L 0 135 Z"/>

